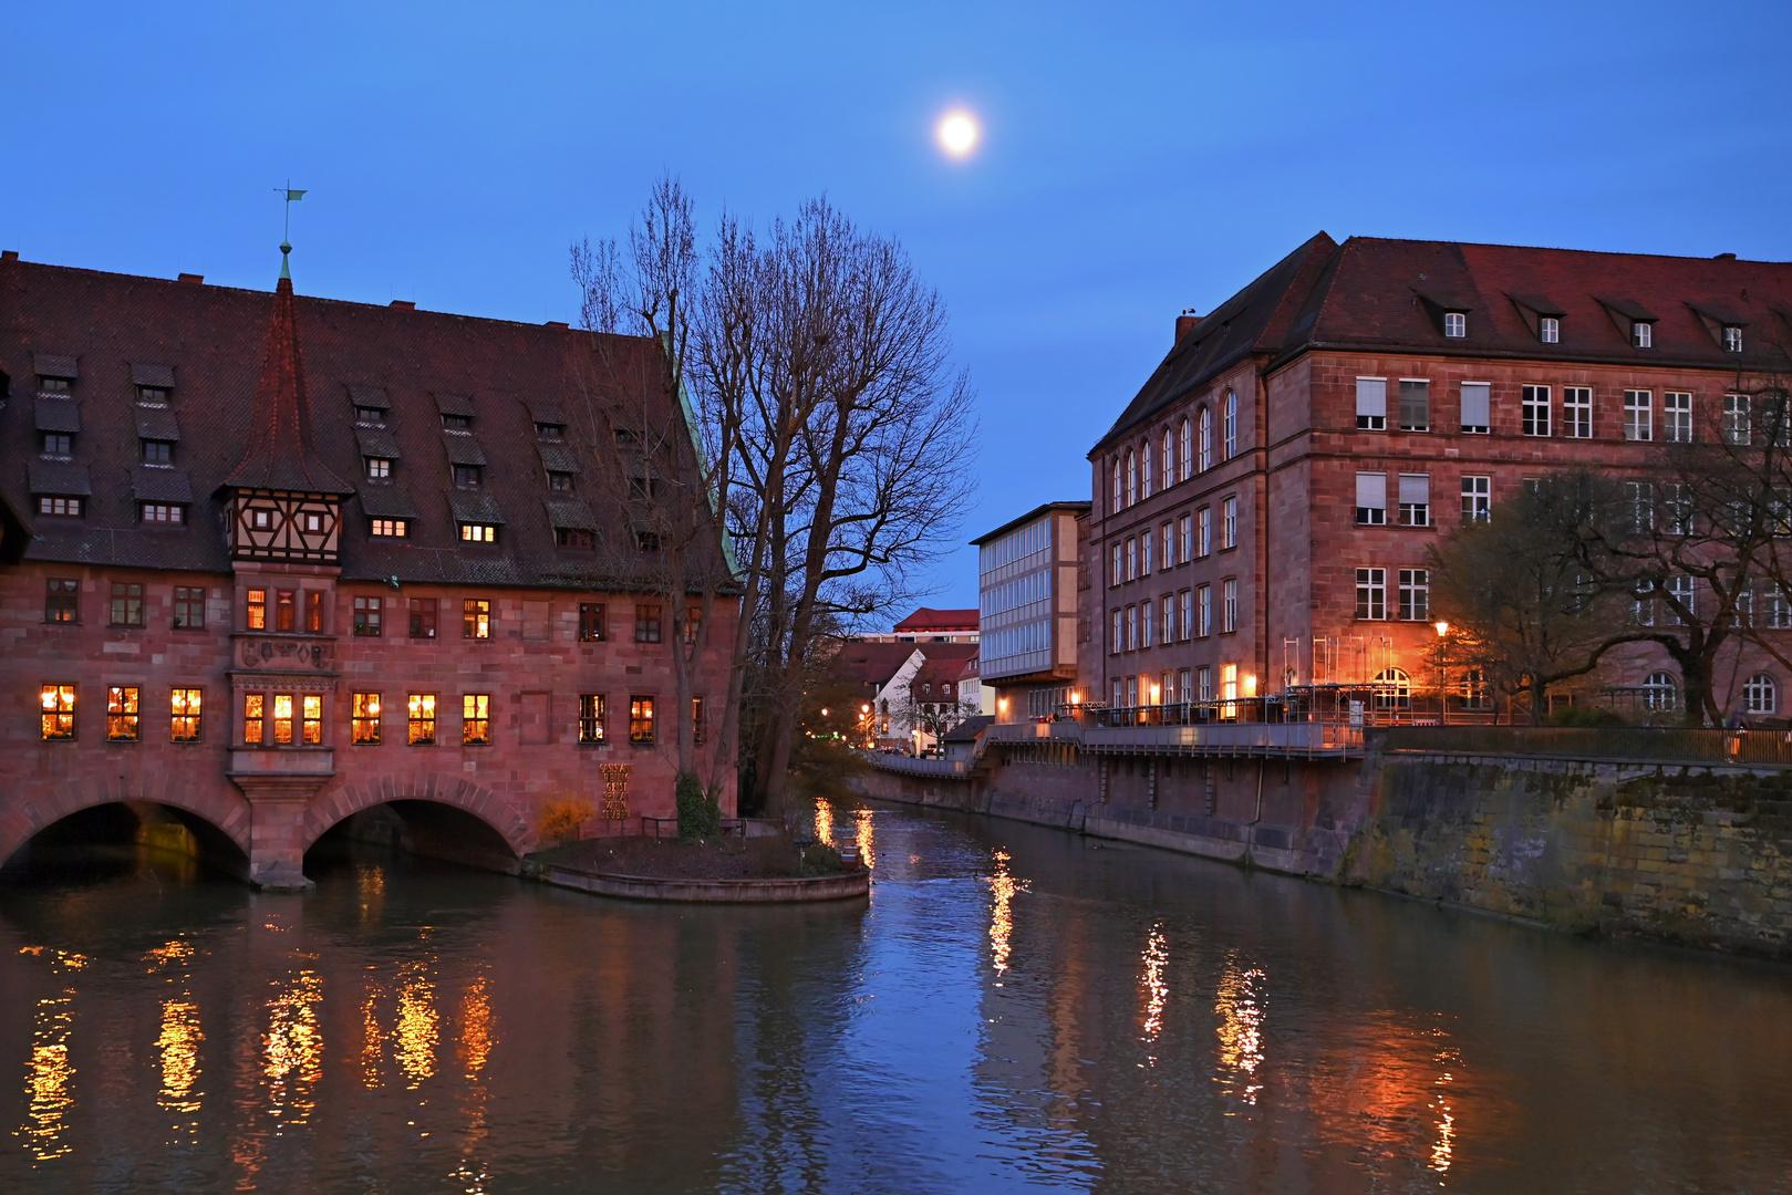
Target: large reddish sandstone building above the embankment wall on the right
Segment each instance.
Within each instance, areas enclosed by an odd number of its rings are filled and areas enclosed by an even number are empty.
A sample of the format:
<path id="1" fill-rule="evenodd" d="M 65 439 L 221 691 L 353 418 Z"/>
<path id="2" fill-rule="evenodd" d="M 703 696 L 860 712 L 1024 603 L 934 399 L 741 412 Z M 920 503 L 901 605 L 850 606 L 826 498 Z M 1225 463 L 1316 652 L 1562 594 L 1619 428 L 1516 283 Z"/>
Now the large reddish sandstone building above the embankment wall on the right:
<path id="1" fill-rule="evenodd" d="M 1324 233 L 1204 317 L 1090 451 L 1091 697 L 1147 706 L 1290 684 L 1430 683 L 1425 550 L 1564 466 L 1747 419 L 1783 358 L 1792 265 Z M 1783 604 L 1758 611 L 1792 627 Z M 1656 647 L 1609 658 L 1672 684 Z M 1719 701 L 1783 715 L 1738 647 Z M 1459 704 L 1477 704 L 1469 690 Z"/>

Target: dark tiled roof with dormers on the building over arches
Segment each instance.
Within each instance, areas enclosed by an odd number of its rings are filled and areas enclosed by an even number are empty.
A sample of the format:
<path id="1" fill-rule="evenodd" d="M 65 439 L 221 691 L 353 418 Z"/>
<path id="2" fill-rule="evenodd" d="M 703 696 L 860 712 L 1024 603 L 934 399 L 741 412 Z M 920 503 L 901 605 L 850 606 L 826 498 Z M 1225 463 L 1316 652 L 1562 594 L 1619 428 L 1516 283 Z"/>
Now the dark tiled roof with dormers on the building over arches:
<path id="1" fill-rule="evenodd" d="M 358 491 L 358 500 L 344 502 L 344 577 L 613 589 L 645 582 L 627 518 L 602 494 L 570 496 L 590 514 L 581 521 L 595 523 L 581 530 L 597 532 L 597 548 L 556 548 L 534 425 L 548 423 L 538 412 L 566 419 L 563 443 L 539 444 L 554 450 L 547 459 L 613 451 L 600 423 L 611 407 L 624 394 L 629 403 L 643 394 L 658 401 L 650 340 L 305 296 L 289 303 L 319 471 L 287 478 L 280 460 L 256 457 L 260 471 L 242 480 Z M 39 484 L 45 493 L 88 496 L 82 520 L 30 523 L 25 559 L 229 572 L 222 487 L 254 444 L 274 315 L 265 290 L 0 262 L 0 373 L 13 380 L 11 400 L 0 403 L 0 498 L 23 514 L 36 509 L 30 493 Z M 136 521 L 138 477 L 149 473 L 138 469 L 136 443 L 138 416 L 152 410 L 136 401 L 136 387 L 152 383 L 140 380 L 147 364 L 167 369 L 158 382 L 174 380 L 165 414 L 179 426 L 176 469 L 154 473 L 188 478 L 185 529 Z M 22 401 L 39 373 L 75 376 L 73 398 Z M 294 373 L 294 396 L 297 387 Z M 385 426 L 357 426 L 357 405 L 387 410 Z M 489 460 L 477 493 L 453 489 L 441 405 L 471 412 L 473 435 L 461 439 L 475 441 Z M 39 428 L 39 408 L 68 426 Z M 290 434 L 297 414 L 287 417 Z M 73 462 L 41 460 L 39 430 L 79 432 Z M 364 441 L 366 432 L 380 435 Z M 362 457 L 378 455 L 364 444 L 400 460 L 391 482 L 362 478 Z M 568 494 L 552 498 L 559 511 Z M 502 521 L 498 543 L 461 546 L 457 512 Z M 410 536 L 373 539 L 362 514 L 410 518 Z"/>

